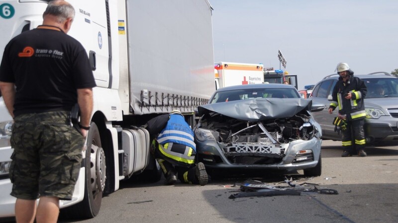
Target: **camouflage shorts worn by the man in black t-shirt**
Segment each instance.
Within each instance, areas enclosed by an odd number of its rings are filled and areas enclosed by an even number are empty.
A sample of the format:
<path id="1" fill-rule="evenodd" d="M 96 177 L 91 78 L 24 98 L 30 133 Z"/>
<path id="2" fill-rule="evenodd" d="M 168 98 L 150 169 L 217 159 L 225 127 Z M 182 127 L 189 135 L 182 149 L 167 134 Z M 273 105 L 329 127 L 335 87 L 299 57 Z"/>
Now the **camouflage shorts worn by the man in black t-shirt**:
<path id="1" fill-rule="evenodd" d="M 9 177 L 11 195 L 71 200 L 82 162 L 83 136 L 71 125 L 69 112 L 21 114 L 12 126 Z"/>

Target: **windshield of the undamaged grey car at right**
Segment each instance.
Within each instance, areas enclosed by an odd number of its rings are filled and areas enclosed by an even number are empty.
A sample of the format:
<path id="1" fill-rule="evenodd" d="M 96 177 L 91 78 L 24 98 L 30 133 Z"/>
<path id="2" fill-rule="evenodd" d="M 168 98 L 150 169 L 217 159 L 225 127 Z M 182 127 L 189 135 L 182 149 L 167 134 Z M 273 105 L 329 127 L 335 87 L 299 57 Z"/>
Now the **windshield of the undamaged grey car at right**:
<path id="1" fill-rule="evenodd" d="M 397 98 L 398 78 L 363 78 L 368 93 L 365 98 Z"/>

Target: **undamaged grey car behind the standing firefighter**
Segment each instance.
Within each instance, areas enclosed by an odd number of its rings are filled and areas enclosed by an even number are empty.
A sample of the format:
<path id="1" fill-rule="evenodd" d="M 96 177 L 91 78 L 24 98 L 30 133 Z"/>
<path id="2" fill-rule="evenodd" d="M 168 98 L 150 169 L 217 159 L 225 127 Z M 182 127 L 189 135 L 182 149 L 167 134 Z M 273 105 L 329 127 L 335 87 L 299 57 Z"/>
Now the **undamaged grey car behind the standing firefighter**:
<path id="1" fill-rule="evenodd" d="M 366 143 L 398 145 L 398 78 L 386 72 L 355 76 L 361 78 L 368 88 L 364 99 Z M 331 74 L 317 83 L 311 95 L 312 101 L 329 107 L 338 78 L 338 74 Z M 333 114 L 329 114 L 327 109 L 313 113 L 321 126 L 323 139 L 341 140 L 341 135 L 334 131 L 332 124 L 337 115 L 338 108 Z"/>

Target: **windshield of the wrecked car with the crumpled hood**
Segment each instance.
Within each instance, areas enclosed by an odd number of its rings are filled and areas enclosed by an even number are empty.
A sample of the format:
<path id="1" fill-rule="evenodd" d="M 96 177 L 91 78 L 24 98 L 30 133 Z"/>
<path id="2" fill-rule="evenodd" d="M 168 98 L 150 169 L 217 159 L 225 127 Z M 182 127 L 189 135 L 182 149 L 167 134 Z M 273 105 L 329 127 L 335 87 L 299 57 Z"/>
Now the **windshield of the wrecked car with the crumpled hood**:
<path id="1" fill-rule="evenodd" d="M 210 104 L 256 98 L 300 98 L 300 95 L 294 88 L 235 89 L 216 92 Z"/>

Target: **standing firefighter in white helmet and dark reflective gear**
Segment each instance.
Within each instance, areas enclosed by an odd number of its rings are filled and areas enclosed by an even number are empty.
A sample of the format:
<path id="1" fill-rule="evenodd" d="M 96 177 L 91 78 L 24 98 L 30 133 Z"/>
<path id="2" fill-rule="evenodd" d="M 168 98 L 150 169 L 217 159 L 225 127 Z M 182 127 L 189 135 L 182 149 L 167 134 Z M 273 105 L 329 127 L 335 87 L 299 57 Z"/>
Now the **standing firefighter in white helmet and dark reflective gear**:
<path id="1" fill-rule="evenodd" d="M 350 157 L 358 154 L 360 157 L 366 157 L 364 151 L 366 85 L 361 79 L 354 77 L 354 72 L 347 63 L 338 63 L 336 70 L 340 77 L 333 89 L 333 100 L 329 105 L 329 113 L 331 114 L 338 106 L 338 117 L 346 123 L 345 128 L 341 131 L 344 148 L 341 156 Z"/>

